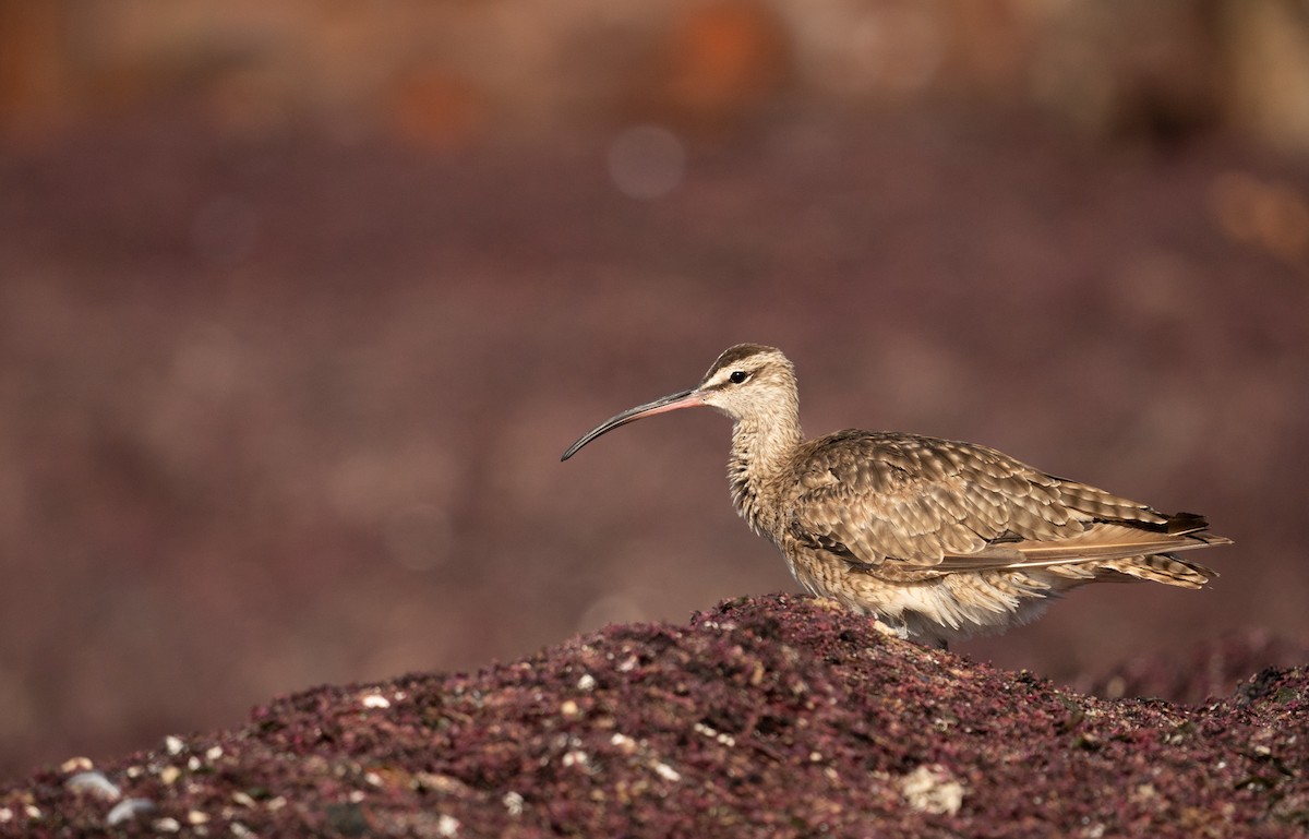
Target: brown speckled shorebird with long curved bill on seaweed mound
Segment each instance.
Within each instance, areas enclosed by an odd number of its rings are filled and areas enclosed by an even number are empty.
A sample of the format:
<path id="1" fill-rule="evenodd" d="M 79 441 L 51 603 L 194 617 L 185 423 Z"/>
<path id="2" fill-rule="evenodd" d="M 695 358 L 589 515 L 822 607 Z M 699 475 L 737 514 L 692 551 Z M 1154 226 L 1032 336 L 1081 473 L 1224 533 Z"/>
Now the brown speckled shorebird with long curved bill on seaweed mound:
<path id="1" fill-rule="evenodd" d="M 630 408 L 619 425 L 707 406 L 733 420 L 732 501 L 809 593 L 919 643 L 1001 632 L 1098 581 L 1199 589 L 1213 572 L 1179 551 L 1232 541 L 1194 513 L 1168 516 L 971 442 L 838 431 L 805 440 L 791 361 L 737 344 L 690 390 Z"/>

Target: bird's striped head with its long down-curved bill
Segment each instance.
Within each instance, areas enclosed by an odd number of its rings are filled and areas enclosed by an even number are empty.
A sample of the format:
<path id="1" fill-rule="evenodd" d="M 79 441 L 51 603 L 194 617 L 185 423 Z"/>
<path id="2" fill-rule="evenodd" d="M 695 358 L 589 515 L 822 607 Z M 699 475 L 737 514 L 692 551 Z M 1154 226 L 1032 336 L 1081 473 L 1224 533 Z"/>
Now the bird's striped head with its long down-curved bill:
<path id="1" fill-rule="evenodd" d="M 725 349 L 691 390 L 639 404 L 605 420 L 568 446 L 560 459 L 567 461 L 584 445 L 619 425 L 699 406 L 717 408 L 737 423 L 767 423 L 781 412 L 789 412 L 793 418 L 798 411 L 795 368 L 780 349 L 737 344 Z"/>

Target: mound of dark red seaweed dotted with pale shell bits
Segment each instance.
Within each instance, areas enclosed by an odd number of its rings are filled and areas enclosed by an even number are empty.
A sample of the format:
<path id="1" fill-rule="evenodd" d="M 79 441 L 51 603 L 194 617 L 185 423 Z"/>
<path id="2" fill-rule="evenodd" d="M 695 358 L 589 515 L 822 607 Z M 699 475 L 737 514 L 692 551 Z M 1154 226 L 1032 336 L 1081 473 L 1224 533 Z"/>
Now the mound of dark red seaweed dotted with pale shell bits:
<path id="1" fill-rule="evenodd" d="M 1097 699 L 821 601 L 321 687 L 0 791 L 0 835 L 1301 836 L 1309 670 Z"/>

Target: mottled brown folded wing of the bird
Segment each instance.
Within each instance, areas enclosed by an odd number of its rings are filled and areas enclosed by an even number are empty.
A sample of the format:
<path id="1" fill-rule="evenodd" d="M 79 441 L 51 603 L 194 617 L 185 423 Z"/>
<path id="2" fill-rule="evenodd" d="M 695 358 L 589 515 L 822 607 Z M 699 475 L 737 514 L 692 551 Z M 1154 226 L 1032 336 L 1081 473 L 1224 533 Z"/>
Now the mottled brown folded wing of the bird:
<path id="1" fill-rule="evenodd" d="M 1024 563 L 1035 546 L 1072 548 L 1094 520 L 1151 530 L 1168 521 L 966 442 L 851 431 L 806 448 L 792 531 L 856 563 L 1000 568 Z M 1085 542 L 1071 552 L 1088 548 L 1096 552 Z"/>

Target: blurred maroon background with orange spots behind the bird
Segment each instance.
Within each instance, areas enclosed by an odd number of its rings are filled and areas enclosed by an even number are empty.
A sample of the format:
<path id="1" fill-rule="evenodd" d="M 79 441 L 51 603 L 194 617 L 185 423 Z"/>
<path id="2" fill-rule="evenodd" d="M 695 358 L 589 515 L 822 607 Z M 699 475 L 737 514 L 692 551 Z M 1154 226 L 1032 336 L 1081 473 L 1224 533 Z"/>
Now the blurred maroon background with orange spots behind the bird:
<path id="1" fill-rule="evenodd" d="M 1145 8 L 1148 7 L 1148 8 Z M 726 421 L 966 438 L 1237 544 L 963 652 L 1309 635 L 1295 0 L 0 0 L 0 775 L 795 589 Z"/>

